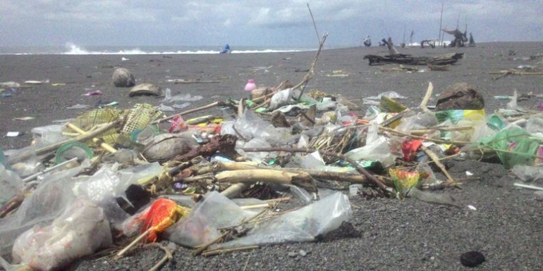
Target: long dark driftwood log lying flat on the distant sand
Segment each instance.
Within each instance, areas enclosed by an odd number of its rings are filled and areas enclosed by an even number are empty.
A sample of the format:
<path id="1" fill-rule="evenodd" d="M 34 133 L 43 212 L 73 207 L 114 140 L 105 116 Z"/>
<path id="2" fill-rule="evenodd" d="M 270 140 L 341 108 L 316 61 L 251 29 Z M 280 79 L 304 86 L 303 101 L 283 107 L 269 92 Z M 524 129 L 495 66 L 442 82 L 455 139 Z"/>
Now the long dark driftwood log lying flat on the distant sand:
<path id="1" fill-rule="evenodd" d="M 376 64 L 408 64 L 408 65 L 450 65 L 464 57 L 464 53 L 446 53 L 440 56 L 411 56 L 401 53 L 389 56 L 365 55 L 370 65 Z"/>

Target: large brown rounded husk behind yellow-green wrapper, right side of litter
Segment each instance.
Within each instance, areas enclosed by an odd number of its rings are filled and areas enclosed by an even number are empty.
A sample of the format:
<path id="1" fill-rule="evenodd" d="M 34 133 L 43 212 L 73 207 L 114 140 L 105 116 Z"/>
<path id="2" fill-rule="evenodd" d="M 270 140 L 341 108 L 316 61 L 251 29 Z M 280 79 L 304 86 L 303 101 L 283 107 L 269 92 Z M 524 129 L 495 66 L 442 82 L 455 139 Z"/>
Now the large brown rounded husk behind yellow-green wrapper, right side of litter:
<path id="1" fill-rule="evenodd" d="M 437 98 L 436 111 L 480 110 L 484 99 L 476 87 L 468 83 L 456 83 L 447 87 Z"/>

